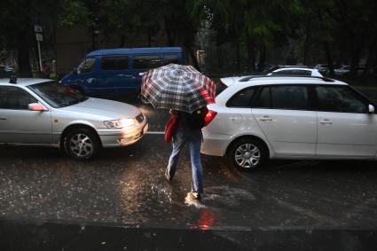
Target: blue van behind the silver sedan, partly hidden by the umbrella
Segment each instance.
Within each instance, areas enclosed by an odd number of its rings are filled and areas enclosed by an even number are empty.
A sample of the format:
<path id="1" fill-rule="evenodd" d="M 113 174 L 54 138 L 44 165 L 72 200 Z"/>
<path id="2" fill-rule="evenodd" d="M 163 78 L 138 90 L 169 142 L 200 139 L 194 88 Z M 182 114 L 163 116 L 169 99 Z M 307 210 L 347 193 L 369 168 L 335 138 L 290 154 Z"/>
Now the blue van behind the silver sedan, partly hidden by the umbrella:
<path id="1" fill-rule="evenodd" d="M 91 51 L 61 83 L 87 95 L 137 94 L 139 75 L 170 63 L 185 64 L 181 47 L 150 47 Z"/>

